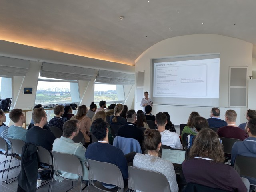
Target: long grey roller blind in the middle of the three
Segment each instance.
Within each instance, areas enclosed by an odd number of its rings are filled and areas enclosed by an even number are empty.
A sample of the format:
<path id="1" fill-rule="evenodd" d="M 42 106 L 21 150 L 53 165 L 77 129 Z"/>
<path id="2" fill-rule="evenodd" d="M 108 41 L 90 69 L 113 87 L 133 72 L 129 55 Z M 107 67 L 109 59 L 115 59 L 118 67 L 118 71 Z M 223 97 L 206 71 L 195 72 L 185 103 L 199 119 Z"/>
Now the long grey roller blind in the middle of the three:
<path id="1" fill-rule="evenodd" d="M 61 64 L 43 63 L 41 77 L 90 81 L 94 75 L 94 69 L 75 67 Z"/>

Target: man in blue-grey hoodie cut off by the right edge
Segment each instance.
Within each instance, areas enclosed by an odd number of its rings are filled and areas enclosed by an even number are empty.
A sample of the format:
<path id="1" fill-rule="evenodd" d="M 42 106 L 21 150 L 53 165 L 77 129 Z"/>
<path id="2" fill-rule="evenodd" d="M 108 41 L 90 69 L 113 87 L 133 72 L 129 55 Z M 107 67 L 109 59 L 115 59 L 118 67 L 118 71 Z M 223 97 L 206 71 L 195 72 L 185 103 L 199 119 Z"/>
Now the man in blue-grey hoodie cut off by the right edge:
<path id="1" fill-rule="evenodd" d="M 234 166 L 236 156 L 256 157 L 256 118 L 250 118 L 245 128 L 247 139 L 235 142 L 231 151 L 231 165 Z M 256 185 L 255 178 L 248 178 L 250 184 Z"/>

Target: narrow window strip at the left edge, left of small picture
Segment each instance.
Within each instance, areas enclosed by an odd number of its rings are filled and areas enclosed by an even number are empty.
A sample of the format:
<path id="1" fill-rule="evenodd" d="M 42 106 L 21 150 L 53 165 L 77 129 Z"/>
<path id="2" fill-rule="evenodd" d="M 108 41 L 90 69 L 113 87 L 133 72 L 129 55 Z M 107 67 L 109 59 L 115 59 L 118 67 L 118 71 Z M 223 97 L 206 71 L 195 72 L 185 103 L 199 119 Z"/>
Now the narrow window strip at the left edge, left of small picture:
<path id="1" fill-rule="evenodd" d="M 0 77 L 0 99 L 12 98 L 12 78 Z"/>

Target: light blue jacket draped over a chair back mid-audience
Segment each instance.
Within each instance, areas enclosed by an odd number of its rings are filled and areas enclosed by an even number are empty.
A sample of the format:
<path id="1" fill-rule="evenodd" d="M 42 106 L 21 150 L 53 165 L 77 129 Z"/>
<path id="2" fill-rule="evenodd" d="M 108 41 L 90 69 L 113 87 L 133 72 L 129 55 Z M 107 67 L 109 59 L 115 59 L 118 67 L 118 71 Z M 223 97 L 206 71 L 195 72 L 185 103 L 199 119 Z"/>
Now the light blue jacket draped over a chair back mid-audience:
<path id="1" fill-rule="evenodd" d="M 124 154 L 128 154 L 133 151 L 142 153 L 139 142 L 133 138 L 116 136 L 114 138 L 113 146 L 120 148 Z"/>

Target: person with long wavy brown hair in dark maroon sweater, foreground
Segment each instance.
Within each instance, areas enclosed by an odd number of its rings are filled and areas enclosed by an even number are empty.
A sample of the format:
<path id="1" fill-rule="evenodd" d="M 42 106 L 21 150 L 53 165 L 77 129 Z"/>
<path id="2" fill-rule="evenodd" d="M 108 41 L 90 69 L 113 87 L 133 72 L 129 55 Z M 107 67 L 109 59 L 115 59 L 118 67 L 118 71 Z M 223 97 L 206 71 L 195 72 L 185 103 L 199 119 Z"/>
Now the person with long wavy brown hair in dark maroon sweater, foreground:
<path id="1" fill-rule="evenodd" d="M 189 156 L 190 160 L 182 164 L 186 182 L 226 191 L 249 191 L 248 180 L 241 179 L 234 168 L 223 163 L 223 146 L 213 130 L 205 128 L 198 132 Z"/>

